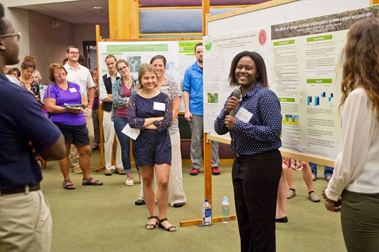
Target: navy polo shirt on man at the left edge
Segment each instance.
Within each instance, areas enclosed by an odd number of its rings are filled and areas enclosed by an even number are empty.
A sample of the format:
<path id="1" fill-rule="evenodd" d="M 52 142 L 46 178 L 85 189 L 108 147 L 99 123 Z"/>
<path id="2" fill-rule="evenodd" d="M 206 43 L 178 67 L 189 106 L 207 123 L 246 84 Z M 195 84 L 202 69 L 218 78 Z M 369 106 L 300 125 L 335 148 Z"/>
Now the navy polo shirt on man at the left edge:
<path id="1" fill-rule="evenodd" d="M 46 117 L 34 95 L 0 74 L 0 190 L 38 184 L 41 168 L 28 142 L 38 151 L 52 146 L 61 131 Z"/>

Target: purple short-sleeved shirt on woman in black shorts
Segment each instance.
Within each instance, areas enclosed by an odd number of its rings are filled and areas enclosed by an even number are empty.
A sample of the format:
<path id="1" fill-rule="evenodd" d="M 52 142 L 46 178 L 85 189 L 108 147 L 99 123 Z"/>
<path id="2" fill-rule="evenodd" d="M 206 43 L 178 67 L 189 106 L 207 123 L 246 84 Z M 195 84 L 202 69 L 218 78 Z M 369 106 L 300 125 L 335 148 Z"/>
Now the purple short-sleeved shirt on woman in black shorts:
<path id="1" fill-rule="evenodd" d="M 67 82 L 68 88 L 67 90 L 61 89 L 55 82 L 50 84 L 48 88 L 46 88 L 43 99 L 45 98 L 53 98 L 56 100 L 56 105 L 64 107 L 66 104 L 81 104 L 82 95 L 84 94 L 81 87 L 72 82 Z M 85 125 L 84 113 L 80 114 L 72 114 L 72 113 L 60 113 L 60 114 L 52 114 L 52 122 L 63 123 L 68 125 Z"/>

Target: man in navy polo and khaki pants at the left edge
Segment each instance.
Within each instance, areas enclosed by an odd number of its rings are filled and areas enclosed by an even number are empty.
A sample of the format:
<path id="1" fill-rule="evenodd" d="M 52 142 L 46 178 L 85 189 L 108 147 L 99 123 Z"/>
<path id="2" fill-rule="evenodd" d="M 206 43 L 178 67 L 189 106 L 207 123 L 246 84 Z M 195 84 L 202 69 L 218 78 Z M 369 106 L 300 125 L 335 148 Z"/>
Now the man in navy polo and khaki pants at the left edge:
<path id="1" fill-rule="evenodd" d="M 0 69 L 19 62 L 19 39 L 0 4 Z M 50 251 L 52 217 L 33 153 L 64 158 L 64 137 L 34 95 L 2 74 L 0 100 L 0 251 Z"/>

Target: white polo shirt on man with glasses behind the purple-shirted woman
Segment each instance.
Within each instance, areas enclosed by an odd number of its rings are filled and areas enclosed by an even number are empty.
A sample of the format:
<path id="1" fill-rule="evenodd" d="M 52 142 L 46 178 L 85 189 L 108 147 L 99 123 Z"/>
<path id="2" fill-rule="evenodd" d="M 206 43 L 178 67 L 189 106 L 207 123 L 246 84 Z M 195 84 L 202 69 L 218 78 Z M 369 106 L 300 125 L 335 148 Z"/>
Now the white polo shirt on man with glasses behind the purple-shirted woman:
<path id="1" fill-rule="evenodd" d="M 95 86 L 88 68 L 79 64 L 78 68 L 75 70 L 68 63 L 64 65 L 64 68 L 67 70 L 67 81 L 78 84 L 83 90 Z M 87 93 L 87 91 L 85 93 Z"/>

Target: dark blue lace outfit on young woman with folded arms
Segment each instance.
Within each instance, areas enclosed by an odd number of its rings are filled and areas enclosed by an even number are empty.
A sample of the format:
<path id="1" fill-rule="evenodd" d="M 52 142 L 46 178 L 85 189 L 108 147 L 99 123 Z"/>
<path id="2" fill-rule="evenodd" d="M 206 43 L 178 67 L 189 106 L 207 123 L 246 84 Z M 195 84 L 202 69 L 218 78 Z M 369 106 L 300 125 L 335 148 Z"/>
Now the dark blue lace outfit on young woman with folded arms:
<path id="1" fill-rule="evenodd" d="M 165 104 L 165 111 L 154 110 L 154 103 Z M 158 130 L 144 129 L 145 118 L 161 117 L 155 122 Z M 154 166 L 154 164 L 171 165 L 171 140 L 168 128 L 172 123 L 172 105 L 170 97 L 159 93 L 152 98 L 144 98 L 139 94 L 130 97 L 128 107 L 129 126 L 140 129 L 136 140 L 133 140 L 132 152 L 138 166 Z"/>

